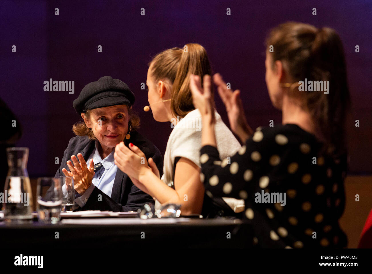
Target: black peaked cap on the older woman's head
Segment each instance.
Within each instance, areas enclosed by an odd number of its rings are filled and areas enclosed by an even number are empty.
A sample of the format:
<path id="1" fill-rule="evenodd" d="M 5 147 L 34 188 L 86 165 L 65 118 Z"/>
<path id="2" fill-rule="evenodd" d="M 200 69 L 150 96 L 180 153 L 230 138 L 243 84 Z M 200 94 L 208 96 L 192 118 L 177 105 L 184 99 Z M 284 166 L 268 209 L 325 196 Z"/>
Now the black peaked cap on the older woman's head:
<path id="1" fill-rule="evenodd" d="M 85 112 L 88 109 L 110 107 L 112 105 L 134 104 L 134 94 L 129 87 L 119 79 L 111 76 L 103 76 L 98 81 L 84 86 L 73 106 L 76 113 Z"/>

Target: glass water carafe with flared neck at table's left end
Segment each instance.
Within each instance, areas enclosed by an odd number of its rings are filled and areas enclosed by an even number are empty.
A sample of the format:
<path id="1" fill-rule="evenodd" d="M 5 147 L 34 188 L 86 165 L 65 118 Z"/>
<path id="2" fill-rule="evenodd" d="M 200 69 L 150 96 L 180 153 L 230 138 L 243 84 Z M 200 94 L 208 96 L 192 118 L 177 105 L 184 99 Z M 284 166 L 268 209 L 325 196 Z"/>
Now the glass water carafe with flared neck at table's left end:
<path id="1" fill-rule="evenodd" d="M 4 188 L 4 219 L 32 220 L 32 192 L 26 169 L 28 148 L 7 148 L 9 171 Z"/>

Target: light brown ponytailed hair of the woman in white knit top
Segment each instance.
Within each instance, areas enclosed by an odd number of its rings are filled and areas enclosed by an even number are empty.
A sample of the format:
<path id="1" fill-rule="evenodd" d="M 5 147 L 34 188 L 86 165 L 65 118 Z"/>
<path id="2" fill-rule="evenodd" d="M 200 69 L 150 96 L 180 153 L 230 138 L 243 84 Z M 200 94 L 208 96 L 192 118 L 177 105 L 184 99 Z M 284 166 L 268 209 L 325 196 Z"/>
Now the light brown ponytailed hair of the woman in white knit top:
<path id="1" fill-rule="evenodd" d="M 172 83 L 171 111 L 175 116 L 185 117 L 194 110 L 189 87 L 190 74 L 211 75 L 211 66 L 205 48 L 199 44 L 186 44 L 187 47 L 171 48 L 158 53 L 149 63 L 155 81 L 168 79 Z"/>

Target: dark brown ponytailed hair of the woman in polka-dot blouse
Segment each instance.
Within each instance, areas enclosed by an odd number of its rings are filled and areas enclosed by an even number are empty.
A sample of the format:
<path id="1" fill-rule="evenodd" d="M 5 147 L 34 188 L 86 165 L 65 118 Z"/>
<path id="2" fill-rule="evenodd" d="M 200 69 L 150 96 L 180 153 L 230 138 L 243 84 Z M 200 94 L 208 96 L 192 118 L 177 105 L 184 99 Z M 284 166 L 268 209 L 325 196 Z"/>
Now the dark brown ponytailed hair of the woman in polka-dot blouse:
<path id="1" fill-rule="evenodd" d="M 345 119 L 350 107 L 346 63 L 339 35 L 331 28 L 288 22 L 272 29 L 266 48 L 273 45 L 273 64 L 283 62 L 294 82 L 329 81 L 328 94 L 323 91 L 296 91 L 309 111 L 316 127 L 315 135 L 323 142 L 323 150 L 337 154 L 346 152 Z M 272 65 L 273 65 L 272 64 Z"/>

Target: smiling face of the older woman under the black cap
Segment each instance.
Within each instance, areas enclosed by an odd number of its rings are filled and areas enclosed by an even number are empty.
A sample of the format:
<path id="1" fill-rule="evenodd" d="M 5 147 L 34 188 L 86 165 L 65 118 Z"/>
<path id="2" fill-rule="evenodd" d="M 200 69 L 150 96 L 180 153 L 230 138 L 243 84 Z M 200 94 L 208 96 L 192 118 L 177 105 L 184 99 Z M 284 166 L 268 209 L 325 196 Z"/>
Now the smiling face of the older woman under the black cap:
<path id="1" fill-rule="evenodd" d="M 126 105 L 94 108 L 90 111 L 89 119 L 85 116 L 83 119 L 102 147 L 115 147 L 124 140 L 128 132 L 129 115 Z"/>

